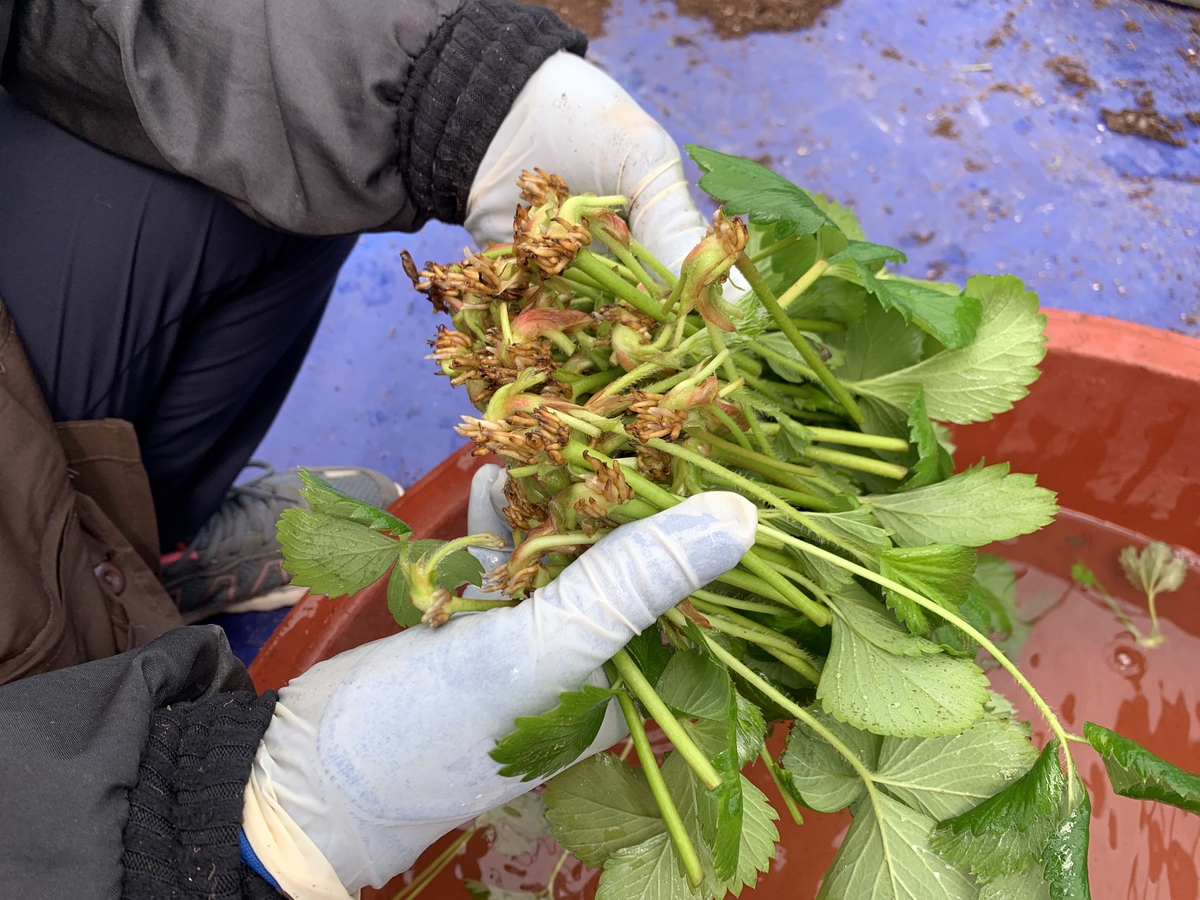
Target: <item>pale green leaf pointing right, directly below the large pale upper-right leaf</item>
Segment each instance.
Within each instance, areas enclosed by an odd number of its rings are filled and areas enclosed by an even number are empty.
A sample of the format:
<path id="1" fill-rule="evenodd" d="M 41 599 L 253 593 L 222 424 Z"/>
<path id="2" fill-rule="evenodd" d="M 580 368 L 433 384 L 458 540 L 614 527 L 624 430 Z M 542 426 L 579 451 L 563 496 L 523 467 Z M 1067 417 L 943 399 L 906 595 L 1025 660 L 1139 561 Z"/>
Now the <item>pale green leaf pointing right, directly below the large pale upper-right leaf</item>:
<path id="1" fill-rule="evenodd" d="M 862 498 L 901 547 L 961 544 L 982 547 L 1050 524 L 1055 494 L 1033 475 L 1010 475 L 1008 463 L 974 466 L 936 485 Z"/>

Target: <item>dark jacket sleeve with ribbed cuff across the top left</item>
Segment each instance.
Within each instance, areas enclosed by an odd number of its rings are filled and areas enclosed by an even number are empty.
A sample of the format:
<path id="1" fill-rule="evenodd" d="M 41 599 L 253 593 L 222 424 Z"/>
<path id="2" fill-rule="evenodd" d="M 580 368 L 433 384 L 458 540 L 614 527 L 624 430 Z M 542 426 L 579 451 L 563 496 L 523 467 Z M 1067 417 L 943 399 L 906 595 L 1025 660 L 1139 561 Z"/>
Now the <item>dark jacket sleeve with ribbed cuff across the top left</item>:
<path id="1" fill-rule="evenodd" d="M 316 235 L 461 222 L 521 86 L 587 49 L 514 0 L 0 0 L 0 19 L 6 6 L 0 84 L 20 103 Z"/>

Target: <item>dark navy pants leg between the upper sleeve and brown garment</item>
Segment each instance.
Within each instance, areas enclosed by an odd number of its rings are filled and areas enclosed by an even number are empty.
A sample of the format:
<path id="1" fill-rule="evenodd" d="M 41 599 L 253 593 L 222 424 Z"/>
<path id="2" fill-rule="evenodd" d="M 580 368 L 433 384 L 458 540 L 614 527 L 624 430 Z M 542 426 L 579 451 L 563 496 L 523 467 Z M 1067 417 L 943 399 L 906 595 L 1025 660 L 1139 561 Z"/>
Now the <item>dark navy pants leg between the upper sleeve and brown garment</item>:
<path id="1" fill-rule="evenodd" d="M 260 226 L 0 91 L 0 299 L 56 421 L 133 422 L 163 551 L 266 433 L 354 240 Z"/>

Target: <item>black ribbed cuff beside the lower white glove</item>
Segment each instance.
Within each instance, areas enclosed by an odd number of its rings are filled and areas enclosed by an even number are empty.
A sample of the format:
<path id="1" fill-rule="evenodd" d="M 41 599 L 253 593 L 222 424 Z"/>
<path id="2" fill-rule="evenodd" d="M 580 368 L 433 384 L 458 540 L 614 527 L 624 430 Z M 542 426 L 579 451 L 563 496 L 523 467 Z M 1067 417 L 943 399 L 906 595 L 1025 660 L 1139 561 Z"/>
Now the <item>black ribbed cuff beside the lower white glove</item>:
<path id="1" fill-rule="evenodd" d="M 278 894 L 241 862 L 242 796 L 276 694 L 212 694 L 155 712 L 130 791 L 122 900 Z"/>

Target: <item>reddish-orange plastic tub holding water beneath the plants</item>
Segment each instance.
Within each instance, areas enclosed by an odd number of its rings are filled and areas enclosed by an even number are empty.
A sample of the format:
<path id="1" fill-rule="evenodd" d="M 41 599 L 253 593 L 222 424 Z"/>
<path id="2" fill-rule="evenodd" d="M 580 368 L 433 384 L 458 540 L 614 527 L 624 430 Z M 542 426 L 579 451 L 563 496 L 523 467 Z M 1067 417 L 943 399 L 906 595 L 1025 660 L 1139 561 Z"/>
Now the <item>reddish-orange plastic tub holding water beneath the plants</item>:
<path id="1" fill-rule="evenodd" d="M 1116 562 L 1121 546 L 1150 538 L 1200 550 L 1200 341 L 1080 313 L 1050 310 L 1048 316 L 1049 354 L 1030 396 L 990 422 L 955 431 L 960 466 L 984 457 L 1008 461 L 1014 472 L 1036 473 L 1057 491 L 1064 509 L 1039 534 L 991 548 L 1016 565 L 1022 610 L 1043 613 L 1020 662 L 1068 726 L 1078 731 L 1085 719 L 1116 726 L 1196 770 L 1200 679 L 1196 656 L 1189 654 L 1200 653 L 1200 565 L 1192 565 L 1189 583 L 1178 594 L 1160 602 L 1171 632 L 1168 643 L 1145 653 L 1122 638 L 1096 598 L 1070 590 L 1066 576 L 1081 557 L 1110 590 L 1136 602 Z M 391 512 L 418 536 L 463 534 L 470 476 L 481 462 L 467 449 L 456 452 Z M 379 588 L 338 600 L 308 596 L 280 624 L 250 671 L 260 690 L 278 688 L 319 660 L 395 631 Z M 1000 677 L 995 683 L 1009 686 Z M 1009 695 L 1016 700 L 1015 692 Z M 1032 709 L 1022 712 L 1034 718 Z M 1090 750 L 1081 752 L 1080 764 L 1093 794 L 1093 896 L 1198 900 L 1200 818 L 1114 797 Z M 757 775 L 773 794 L 766 774 Z M 809 814 L 803 828 L 781 821 L 778 870 L 743 896 L 814 896 L 847 823 L 844 814 Z M 553 864 L 553 847 L 540 856 Z M 492 857 L 476 836 L 424 895 L 466 898 L 461 876 L 480 877 L 481 871 L 494 882 L 520 870 L 504 887 L 529 889 L 540 886 L 522 883 L 522 877 L 534 877 L 539 868 L 548 871 L 545 860 L 517 860 L 505 869 Z M 568 866 L 556 896 L 588 893 L 587 877 L 582 866 Z M 390 899 L 403 883 L 397 878 L 364 895 Z"/>

